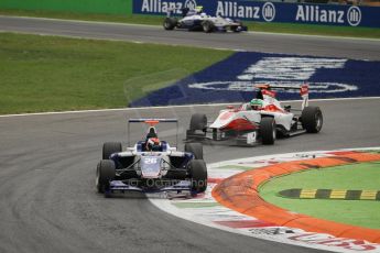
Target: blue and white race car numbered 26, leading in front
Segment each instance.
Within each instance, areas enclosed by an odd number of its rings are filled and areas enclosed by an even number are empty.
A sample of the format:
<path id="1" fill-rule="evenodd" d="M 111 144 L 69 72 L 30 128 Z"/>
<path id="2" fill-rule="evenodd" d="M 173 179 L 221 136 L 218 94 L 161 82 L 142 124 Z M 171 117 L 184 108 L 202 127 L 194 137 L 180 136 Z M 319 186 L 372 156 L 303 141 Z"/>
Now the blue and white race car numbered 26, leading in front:
<path id="1" fill-rule="evenodd" d="M 120 142 L 106 142 L 102 160 L 97 165 L 96 188 L 109 197 L 112 193 L 189 191 L 204 193 L 207 188 L 207 167 L 200 143 L 186 143 L 184 152 L 160 141 L 154 128 L 159 122 L 176 123 L 176 119 L 130 119 L 130 123 L 149 124 L 144 140 L 122 150 Z"/>

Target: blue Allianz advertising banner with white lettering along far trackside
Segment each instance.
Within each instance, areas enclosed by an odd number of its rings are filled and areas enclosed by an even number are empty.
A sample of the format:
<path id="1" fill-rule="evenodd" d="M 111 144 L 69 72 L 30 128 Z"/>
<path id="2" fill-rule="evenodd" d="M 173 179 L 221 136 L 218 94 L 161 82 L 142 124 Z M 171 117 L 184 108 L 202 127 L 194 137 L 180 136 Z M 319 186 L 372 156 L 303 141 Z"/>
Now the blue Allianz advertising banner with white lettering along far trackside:
<path id="1" fill-rule="evenodd" d="M 135 14 L 166 14 L 203 6 L 209 15 L 261 22 L 380 28 L 380 7 L 217 0 L 133 0 Z"/>

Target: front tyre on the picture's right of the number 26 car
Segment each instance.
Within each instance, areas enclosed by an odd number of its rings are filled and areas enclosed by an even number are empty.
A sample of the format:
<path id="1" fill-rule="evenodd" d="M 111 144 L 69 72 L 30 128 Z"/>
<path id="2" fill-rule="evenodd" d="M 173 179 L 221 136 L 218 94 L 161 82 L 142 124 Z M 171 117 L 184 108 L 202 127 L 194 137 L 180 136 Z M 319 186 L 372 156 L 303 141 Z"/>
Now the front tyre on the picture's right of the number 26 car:
<path id="1" fill-rule="evenodd" d="M 207 167 L 203 160 L 192 160 L 188 164 L 192 191 L 204 193 L 207 188 Z"/>

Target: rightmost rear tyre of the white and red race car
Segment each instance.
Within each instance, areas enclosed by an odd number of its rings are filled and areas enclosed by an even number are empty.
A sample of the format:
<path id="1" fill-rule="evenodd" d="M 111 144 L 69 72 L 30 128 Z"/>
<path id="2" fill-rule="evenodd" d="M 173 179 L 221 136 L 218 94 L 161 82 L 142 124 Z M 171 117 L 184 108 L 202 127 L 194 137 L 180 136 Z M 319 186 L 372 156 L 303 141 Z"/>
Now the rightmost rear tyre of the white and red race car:
<path id="1" fill-rule="evenodd" d="M 307 133 L 317 133 L 323 125 L 323 114 L 319 107 L 305 107 L 301 114 L 302 127 Z"/>

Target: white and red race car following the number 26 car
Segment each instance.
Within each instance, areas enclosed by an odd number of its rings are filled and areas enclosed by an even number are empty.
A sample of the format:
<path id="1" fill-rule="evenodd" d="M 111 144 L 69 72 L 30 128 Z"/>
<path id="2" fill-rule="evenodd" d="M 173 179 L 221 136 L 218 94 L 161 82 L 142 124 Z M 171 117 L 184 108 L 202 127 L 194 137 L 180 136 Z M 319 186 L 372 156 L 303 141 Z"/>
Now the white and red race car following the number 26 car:
<path id="1" fill-rule="evenodd" d="M 192 116 L 187 141 L 236 141 L 237 144 L 253 145 L 256 143 L 273 144 L 276 136 L 292 136 L 301 133 L 318 133 L 323 125 L 323 114 L 319 107 L 308 106 L 308 86 L 257 86 L 256 99 L 263 102 L 260 110 L 253 110 L 251 105 L 242 103 L 235 108 L 229 106 L 220 110 L 218 118 L 207 123 L 207 117 L 202 113 Z M 303 98 L 301 109 L 291 106 L 281 107 L 275 99 L 273 89 L 300 89 Z"/>

